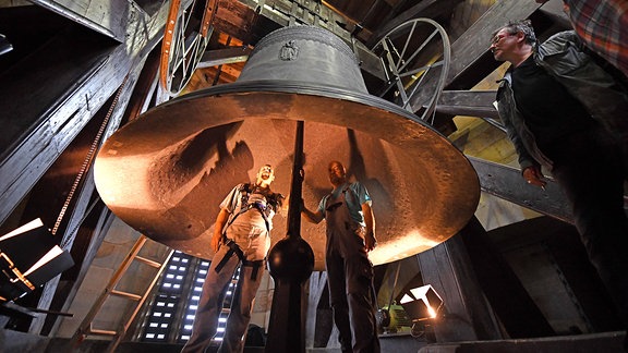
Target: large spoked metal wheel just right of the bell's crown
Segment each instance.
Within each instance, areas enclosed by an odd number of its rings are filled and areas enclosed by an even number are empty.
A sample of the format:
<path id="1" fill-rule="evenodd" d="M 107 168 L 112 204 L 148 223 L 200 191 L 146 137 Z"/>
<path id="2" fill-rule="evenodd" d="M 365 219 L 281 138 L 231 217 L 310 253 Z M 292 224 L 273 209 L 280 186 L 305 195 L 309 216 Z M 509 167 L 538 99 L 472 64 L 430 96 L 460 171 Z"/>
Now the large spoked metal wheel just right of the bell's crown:
<path id="1" fill-rule="evenodd" d="M 430 35 L 419 33 L 419 26 L 432 28 Z M 423 36 L 423 37 L 419 37 Z M 424 39 L 423 39 L 424 38 Z M 422 51 L 436 50 L 436 59 L 426 61 Z M 440 97 L 449 64 L 451 62 L 451 46 L 445 29 L 430 19 L 415 19 L 408 21 L 388 32 L 372 49 L 383 61 L 387 82 L 377 94 L 379 97 L 392 95 L 396 104 L 414 112 L 413 102 L 420 95 L 423 98 L 420 118 L 433 123 L 436 104 Z M 436 84 L 434 80 L 425 80 L 432 71 L 438 70 Z M 426 84 L 433 85 L 432 95 L 426 95 L 423 89 Z M 430 87 L 428 87 L 430 88 Z M 427 97 L 425 97 L 427 96 Z M 388 97 L 390 99 L 390 97 Z"/>

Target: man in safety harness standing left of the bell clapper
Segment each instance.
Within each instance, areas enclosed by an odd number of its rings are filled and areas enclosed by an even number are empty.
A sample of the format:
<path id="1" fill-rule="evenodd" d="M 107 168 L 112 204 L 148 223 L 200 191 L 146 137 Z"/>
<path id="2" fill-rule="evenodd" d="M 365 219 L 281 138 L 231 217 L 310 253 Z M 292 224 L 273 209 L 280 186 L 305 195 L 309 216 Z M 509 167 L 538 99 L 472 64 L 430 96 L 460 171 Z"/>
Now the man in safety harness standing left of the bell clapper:
<path id="1" fill-rule="evenodd" d="M 257 172 L 254 184 L 237 185 L 220 204 L 212 238 L 216 255 L 203 283 L 192 336 L 182 353 L 205 352 L 209 346 L 218 328 L 227 289 L 240 265 L 240 279 L 218 352 L 243 351 L 253 301 L 270 248 L 273 216 L 280 209 L 283 199 L 281 194 L 270 191 L 274 180 L 273 167 L 266 165 Z"/>

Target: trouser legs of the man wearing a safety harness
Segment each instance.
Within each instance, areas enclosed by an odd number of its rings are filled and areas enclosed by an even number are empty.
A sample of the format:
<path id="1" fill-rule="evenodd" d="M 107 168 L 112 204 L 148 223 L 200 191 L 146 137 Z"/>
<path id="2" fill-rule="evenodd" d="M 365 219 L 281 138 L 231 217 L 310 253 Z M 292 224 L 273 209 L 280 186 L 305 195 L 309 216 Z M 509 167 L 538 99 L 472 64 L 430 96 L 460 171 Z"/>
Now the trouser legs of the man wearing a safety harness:
<path id="1" fill-rule="evenodd" d="M 205 352 L 216 334 L 218 317 L 222 311 L 227 289 L 241 263 L 238 255 L 233 254 L 225 264 L 225 267 L 222 267 L 219 272 L 216 272 L 216 266 L 228 251 L 229 246 L 220 245 L 220 248 L 214 256 L 215 260 L 212 261 L 207 277 L 203 283 L 203 292 L 201 294 L 201 301 L 198 302 L 198 308 L 196 309 L 196 316 L 194 317 L 192 336 L 185 346 L 183 346 L 182 353 Z M 240 279 L 233 292 L 233 302 L 231 303 L 231 312 L 227 319 L 225 338 L 218 352 L 239 353 L 244 350 L 244 339 L 246 330 L 249 329 L 249 322 L 251 321 L 253 302 L 259 288 L 264 268 L 264 266 L 258 267 L 255 279 L 251 279 L 253 267 L 242 266 L 240 269 Z"/>

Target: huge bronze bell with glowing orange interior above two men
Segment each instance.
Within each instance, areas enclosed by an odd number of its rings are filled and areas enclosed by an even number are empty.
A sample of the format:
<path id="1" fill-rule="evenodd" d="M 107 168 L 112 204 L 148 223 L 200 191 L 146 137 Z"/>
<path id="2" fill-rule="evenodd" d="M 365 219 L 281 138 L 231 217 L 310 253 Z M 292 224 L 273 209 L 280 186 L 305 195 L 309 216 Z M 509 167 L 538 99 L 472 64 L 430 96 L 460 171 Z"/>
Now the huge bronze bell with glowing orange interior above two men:
<path id="1" fill-rule="evenodd" d="M 471 218 L 480 184 L 449 141 L 400 107 L 370 95 L 352 50 L 310 26 L 263 38 L 235 83 L 155 107 L 109 137 L 95 166 L 98 192 L 124 222 L 150 239 L 212 259 L 219 204 L 258 168 L 276 169 L 273 188 L 290 193 L 297 121 L 304 121 L 303 199 L 315 209 L 340 160 L 373 198 L 384 264 L 428 249 Z M 286 235 L 274 219 L 274 242 Z M 324 269 L 325 226 L 301 236 Z"/>

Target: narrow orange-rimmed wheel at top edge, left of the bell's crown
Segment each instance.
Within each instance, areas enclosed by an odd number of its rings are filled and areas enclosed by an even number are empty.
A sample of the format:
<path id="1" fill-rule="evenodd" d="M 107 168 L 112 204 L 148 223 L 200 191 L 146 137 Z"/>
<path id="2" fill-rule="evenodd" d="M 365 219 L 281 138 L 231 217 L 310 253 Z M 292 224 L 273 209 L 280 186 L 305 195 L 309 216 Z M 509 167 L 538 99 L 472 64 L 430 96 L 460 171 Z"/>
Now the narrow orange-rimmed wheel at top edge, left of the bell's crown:
<path id="1" fill-rule="evenodd" d="M 186 1 L 185 3 L 190 3 Z M 190 82 L 214 31 L 217 0 L 171 0 L 161 44 L 159 83 L 177 96 Z"/>

